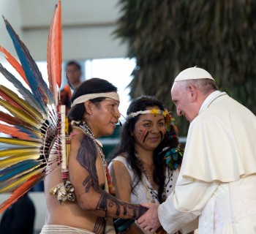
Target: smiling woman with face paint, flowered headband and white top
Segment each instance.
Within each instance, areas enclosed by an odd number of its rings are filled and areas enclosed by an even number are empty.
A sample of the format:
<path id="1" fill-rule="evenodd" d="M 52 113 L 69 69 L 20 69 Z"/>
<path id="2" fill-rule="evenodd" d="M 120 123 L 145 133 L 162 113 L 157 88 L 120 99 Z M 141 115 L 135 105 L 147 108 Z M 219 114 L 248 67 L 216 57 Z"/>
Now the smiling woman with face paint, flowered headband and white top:
<path id="1" fill-rule="evenodd" d="M 149 96 L 132 101 L 109 167 L 118 199 L 138 204 L 165 201 L 182 159 L 176 134 L 174 119 L 162 102 Z M 147 233 L 134 224 L 129 233 L 136 232 Z"/>

